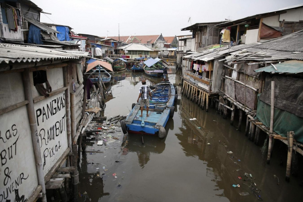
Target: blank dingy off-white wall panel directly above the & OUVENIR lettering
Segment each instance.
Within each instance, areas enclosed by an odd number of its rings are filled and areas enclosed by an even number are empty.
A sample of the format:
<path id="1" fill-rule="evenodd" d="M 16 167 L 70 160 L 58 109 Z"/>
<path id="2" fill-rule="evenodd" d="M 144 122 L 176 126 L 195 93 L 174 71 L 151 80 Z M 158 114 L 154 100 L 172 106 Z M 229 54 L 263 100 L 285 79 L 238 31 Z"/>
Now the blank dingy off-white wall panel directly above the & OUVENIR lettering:
<path id="1" fill-rule="evenodd" d="M 20 72 L 0 74 L 0 109 L 25 100 Z"/>

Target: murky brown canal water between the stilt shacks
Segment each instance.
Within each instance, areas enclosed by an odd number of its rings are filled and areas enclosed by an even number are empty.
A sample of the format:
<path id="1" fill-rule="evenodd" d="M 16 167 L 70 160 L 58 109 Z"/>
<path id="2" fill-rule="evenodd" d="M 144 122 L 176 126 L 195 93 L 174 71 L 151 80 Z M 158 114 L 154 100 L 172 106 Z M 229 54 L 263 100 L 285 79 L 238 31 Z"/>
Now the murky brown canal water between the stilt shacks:
<path id="1" fill-rule="evenodd" d="M 180 83 L 174 67 L 168 74 L 172 83 Z M 138 98 L 142 76 L 147 84 L 161 81 L 146 77 L 144 72 L 115 75 L 113 97 L 107 98 L 104 115 L 111 118 L 129 113 Z M 291 177 L 290 183 L 284 180 L 284 145 L 280 146 L 283 152 L 279 152 L 279 144 L 275 145 L 271 164 L 267 165 L 261 146 L 245 137 L 245 123 L 237 131 L 215 110 L 201 110 L 180 92 L 178 86 L 176 111 L 165 127 L 168 135 L 164 140 L 145 135 L 142 144 L 141 135 L 130 134 L 123 153 L 119 153 L 121 141 L 107 147 L 97 146 L 94 140 L 85 143 L 88 151 L 98 149 L 104 153 L 83 153 L 79 201 L 258 201 L 258 197 L 264 201 L 302 201 L 301 176 Z M 122 131 L 119 135 L 122 137 Z M 261 191 L 257 194 L 256 189 Z"/>

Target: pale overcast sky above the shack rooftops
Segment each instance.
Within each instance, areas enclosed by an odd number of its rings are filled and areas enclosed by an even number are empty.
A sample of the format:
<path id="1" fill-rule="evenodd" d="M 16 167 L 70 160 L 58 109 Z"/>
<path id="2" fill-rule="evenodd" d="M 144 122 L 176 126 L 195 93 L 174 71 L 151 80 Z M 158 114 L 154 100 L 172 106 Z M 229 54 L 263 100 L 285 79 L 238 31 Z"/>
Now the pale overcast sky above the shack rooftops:
<path id="1" fill-rule="evenodd" d="M 198 22 L 236 20 L 303 3 L 303 0 L 31 0 L 44 12 L 41 22 L 68 25 L 98 36 L 191 34 Z M 188 19 L 191 21 L 188 22 Z"/>

